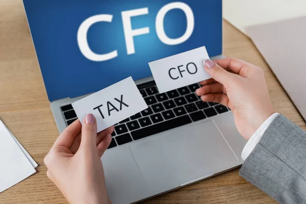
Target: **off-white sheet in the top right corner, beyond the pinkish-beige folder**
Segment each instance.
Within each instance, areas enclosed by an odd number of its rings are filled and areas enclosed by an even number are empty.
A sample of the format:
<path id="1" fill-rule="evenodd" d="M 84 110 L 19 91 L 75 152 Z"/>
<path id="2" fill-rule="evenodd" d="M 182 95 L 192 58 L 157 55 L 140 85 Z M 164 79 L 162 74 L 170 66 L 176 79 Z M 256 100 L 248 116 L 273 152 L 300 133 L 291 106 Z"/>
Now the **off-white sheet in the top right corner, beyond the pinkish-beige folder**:
<path id="1" fill-rule="evenodd" d="M 306 16 L 305 0 L 223 0 L 223 18 L 247 35 L 245 28 Z"/>

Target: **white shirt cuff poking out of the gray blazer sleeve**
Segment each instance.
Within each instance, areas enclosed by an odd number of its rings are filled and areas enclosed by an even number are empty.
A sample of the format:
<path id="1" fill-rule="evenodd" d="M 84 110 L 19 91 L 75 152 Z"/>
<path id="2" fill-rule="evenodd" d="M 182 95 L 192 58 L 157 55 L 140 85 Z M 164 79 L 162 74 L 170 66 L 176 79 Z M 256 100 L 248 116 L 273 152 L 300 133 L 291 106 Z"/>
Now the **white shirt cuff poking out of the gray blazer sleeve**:
<path id="1" fill-rule="evenodd" d="M 271 122 L 276 118 L 276 116 L 279 115 L 279 113 L 272 114 L 264 123 L 257 129 L 257 131 L 250 137 L 250 139 L 247 141 L 246 145 L 244 146 L 241 158 L 243 160 L 246 160 L 246 158 L 251 154 L 252 150 L 255 148 L 261 137 L 264 135 L 265 131 L 267 130 L 268 126 L 271 124 Z"/>

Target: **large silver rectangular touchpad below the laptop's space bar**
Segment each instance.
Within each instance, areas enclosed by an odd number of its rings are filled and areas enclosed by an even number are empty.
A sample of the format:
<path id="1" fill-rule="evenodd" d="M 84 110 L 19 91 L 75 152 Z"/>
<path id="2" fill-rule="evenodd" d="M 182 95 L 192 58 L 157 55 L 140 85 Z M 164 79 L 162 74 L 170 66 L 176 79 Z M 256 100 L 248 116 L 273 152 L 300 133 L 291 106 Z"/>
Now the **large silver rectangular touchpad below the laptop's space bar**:
<path id="1" fill-rule="evenodd" d="M 212 120 L 166 131 L 130 149 L 144 180 L 159 189 L 184 185 L 238 162 Z"/>

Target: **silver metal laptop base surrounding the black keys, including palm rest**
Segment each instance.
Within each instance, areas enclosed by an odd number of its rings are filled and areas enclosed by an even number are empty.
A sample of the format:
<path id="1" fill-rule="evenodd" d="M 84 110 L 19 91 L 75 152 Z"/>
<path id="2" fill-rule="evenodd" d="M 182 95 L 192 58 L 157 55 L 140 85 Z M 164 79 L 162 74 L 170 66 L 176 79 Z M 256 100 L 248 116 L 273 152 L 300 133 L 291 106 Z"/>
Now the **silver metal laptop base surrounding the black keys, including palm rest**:
<path id="1" fill-rule="evenodd" d="M 150 77 L 136 84 L 152 81 Z M 61 107 L 85 96 L 51 103 L 60 133 L 67 126 L 65 112 L 70 111 L 62 111 Z M 211 104 L 207 108 L 217 110 L 216 106 L 219 105 Z M 190 114 L 187 112 L 185 117 L 191 117 Z M 246 140 L 237 132 L 232 112 L 205 115 L 205 119 L 191 120 L 174 129 L 122 145 L 116 143 L 115 147 L 107 149 L 101 160 L 112 202 L 138 202 L 239 167 L 243 163 L 241 152 Z"/>

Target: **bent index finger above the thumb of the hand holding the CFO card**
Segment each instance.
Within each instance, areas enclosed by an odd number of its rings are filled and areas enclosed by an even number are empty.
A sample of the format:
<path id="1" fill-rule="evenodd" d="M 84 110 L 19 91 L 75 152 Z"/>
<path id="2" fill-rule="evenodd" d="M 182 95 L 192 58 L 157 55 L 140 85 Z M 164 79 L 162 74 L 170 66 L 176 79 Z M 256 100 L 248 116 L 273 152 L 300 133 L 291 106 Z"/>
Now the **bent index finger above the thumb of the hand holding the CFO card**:
<path id="1" fill-rule="evenodd" d="M 248 62 L 236 58 L 222 58 L 214 60 L 214 62 L 224 69 L 231 69 L 235 73 L 241 75 L 241 77 L 245 77 L 247 71 L 254 66 Z"/>

